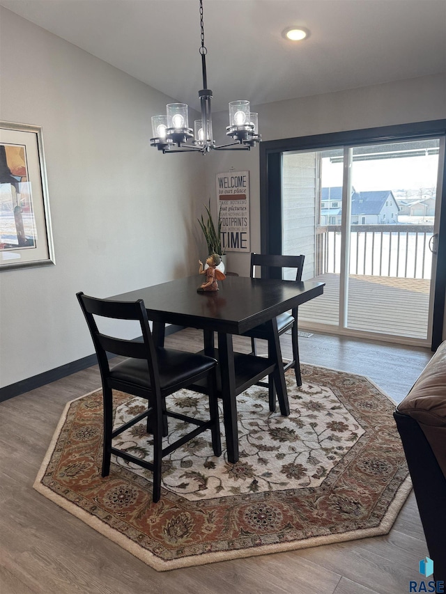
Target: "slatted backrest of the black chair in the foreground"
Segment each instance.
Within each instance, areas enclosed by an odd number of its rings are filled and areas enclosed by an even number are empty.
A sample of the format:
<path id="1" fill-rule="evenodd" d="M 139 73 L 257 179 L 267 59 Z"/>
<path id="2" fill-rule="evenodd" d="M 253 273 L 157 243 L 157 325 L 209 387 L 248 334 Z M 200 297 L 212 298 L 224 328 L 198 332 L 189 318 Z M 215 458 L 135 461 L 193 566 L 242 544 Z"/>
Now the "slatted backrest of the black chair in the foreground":
<path id="1" fill-rule="evenodd" d="M 95 351 L 98 355 L 102 382 L 106 381 L 110 370 L 107 353 L 112 353 L 122 357 L 132 357 L 133 359 L 146 359 L 151 385 L 155 388 L 158 380 L 157 357 L 144 301 L 138 299 L 137 302 L 120 302 L 112 299 L 98 299 L 97 297 L 84 295 L 83 292 L 77 293 L 76 297 L 84 312 Z M 100 316 L 100 318 L 114 320 L 138 321 L 143 340 L 135 341 L 134 339 L 103 334 L 99 331 L 95 322 L 95 315 Z"/>

